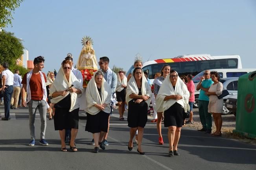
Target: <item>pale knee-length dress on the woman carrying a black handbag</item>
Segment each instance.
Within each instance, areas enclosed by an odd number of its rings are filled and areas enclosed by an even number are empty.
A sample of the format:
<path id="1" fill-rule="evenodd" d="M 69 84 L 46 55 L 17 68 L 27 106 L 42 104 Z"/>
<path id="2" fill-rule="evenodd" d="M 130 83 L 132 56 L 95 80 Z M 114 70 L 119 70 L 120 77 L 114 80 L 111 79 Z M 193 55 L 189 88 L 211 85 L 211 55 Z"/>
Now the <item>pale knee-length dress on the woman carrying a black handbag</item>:
<path id="1" fill-rule="evenodd" d="M 215 92 L 218 96 L 222 94 L 222 90 L 223 90 L 223 84 L 221 82 L 212 84 L 209 88 L 209 92 Z M 223 98 L 218 99 L 217 95 L 209 96 L 209 105 L 208 105 L 209 113 L 222 113 Z"/>

